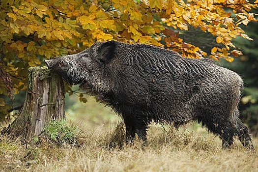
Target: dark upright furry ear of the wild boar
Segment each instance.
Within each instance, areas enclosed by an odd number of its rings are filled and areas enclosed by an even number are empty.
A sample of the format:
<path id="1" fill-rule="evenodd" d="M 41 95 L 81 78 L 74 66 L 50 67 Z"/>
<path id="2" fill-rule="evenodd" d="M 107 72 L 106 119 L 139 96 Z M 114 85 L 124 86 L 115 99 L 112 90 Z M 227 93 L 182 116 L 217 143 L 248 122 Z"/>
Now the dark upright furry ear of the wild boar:
<path id="1" fill-rule="evenodd" d="M 107 41 L 98 48 L 98 58 L 101 62 L 108 62 L 115 54 L 116 41 Z"/>

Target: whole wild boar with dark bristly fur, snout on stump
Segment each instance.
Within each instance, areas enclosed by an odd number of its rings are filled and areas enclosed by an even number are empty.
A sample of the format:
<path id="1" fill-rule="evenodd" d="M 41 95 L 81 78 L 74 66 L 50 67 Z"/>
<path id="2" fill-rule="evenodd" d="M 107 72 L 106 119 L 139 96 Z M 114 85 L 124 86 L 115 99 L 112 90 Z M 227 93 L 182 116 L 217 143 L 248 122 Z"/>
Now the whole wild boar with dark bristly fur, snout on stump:
<path id="1" fill-rule="evenodd" d="M 224 147 L 238 136 L 253 149 L 238 118 L 243 88 L 239 75 L 207 59 L 192 59 L 159 47 L 96 42 L 85 51 L 46 61 L 70 84 L 80 84 L 121 114 L 127 141 L 145 142 L 151 121 L 175 126 L 198 120 Z"/>

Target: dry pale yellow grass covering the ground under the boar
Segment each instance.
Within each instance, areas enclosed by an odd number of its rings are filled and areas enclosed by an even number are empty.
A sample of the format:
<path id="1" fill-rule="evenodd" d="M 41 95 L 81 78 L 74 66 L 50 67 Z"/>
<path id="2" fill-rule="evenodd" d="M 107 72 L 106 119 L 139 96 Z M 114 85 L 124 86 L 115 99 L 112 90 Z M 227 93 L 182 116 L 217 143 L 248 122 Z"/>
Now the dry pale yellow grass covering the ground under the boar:
<path id="1" fill-rule="evenodd" d="M 124 126 L 81 131 L 81 146 L 50 142 L 23 145 L 19 140 L 0 139 L 0 171 L 8 172 L 256 172 L 258 153 L 248 152 L 239 142 L 221 148 L 217 137 L 203 131 L 175 131 L 152 126 L 148 146 L 124 145 Z M 258 139 L 254 139 L 258 149 Z"/>

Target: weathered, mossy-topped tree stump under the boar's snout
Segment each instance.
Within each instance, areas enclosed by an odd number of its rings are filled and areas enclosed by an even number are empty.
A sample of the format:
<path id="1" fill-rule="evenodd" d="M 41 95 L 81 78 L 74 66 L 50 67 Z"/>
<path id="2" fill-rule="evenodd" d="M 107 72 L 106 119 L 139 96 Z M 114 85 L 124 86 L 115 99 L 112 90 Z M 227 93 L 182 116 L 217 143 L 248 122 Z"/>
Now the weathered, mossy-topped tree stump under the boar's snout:
<path id="1" fill-rule="evenodd" d="M 47 67 L 30 67 L 25 102 L 8 134 L 30 139 L 40 135 L 53 119 L 64 119 L 64 86 L 60 76 Z"/>

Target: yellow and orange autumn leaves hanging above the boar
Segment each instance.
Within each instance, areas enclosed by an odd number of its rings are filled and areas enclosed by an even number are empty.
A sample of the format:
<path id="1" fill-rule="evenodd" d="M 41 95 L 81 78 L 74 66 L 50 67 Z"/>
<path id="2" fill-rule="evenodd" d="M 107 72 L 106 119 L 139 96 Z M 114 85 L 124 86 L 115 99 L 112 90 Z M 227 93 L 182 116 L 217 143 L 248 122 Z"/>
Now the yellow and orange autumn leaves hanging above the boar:
<path id="1" fill-rule="evenodd" d="M 251 12 L 257 7 L 258 0 L 1 0 L 0 94 L 25 90 L 29 66 L 95 41 L 146 43 L 185 57 L 232 61 L 241 55 L 232 39 L 252 40 L 241 26 L 257 21 Z M 212 34 L 216 46 L 205 52 L 185 42 L 180 34 L 190 26 Z M 0 117 L 6 110 L 0 98 Z"/>

